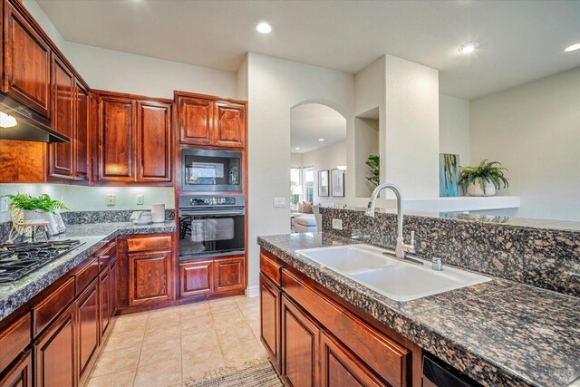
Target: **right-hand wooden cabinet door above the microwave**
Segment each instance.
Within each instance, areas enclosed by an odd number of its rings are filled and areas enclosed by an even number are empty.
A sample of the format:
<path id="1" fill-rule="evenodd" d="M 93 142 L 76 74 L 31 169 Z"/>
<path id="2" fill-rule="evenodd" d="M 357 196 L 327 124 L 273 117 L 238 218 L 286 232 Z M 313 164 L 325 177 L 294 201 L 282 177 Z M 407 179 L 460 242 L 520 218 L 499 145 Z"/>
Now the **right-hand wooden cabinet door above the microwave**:
<path id="1" fill-rule="evenodd" d="M 244 148 L 246 145 L 246 105 L 215 102 L 214 145 Z"/>

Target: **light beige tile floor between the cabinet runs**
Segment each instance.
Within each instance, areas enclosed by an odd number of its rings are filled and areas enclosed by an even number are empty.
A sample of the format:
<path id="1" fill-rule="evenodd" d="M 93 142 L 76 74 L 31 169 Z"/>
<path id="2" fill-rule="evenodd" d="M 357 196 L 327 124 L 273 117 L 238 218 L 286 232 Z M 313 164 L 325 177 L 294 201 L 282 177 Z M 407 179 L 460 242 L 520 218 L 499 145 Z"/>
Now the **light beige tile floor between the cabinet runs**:
<path id="1" fill-rule="evenodd" d="M 181 386 L 264 357 L 259 308 L 242 295 L 117 317 L 88 385 Z"/>

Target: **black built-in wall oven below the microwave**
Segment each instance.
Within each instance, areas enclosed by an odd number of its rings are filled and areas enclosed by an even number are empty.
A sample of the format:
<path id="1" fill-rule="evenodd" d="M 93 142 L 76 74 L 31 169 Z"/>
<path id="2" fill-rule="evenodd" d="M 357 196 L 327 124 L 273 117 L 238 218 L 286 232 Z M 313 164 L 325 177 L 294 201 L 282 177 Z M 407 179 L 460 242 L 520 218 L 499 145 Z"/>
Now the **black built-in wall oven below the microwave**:
<path id="1" fill-rule="evenodd" d="M 244 195 L 179 197 L 179 260 L 244 254 Z"/>

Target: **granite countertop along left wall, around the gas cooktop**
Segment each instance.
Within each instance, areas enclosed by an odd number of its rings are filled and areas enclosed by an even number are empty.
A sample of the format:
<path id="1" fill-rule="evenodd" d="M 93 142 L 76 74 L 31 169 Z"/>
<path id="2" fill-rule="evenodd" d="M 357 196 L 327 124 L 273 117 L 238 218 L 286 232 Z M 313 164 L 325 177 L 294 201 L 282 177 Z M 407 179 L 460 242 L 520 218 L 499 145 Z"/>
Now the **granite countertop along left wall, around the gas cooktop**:
<path id="1" fill-rule="evenodd" d="M 174 221 L 147 226 L 136 226 L 130 222 L 67 226 L 64 234 L 55 236 L 53 239 L 78 239 L 82 245 L 19 281 L 12 284 L 0 284 L 0 321 L 115 237 L 130 234 L 171 233 L 175 230 Z"/>

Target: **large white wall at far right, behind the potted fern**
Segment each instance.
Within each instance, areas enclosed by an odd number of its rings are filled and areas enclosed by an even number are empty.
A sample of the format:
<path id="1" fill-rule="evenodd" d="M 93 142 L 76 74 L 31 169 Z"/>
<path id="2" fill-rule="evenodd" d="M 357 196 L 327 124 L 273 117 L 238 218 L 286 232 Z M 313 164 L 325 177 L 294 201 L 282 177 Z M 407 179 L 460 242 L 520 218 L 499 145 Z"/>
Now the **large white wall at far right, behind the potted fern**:
<path id="1" fill-rule="evenodd" d="M 498 160 L 520 218 L 580 220 L 580 67 L 470 102 L 470 160 Z"/>

